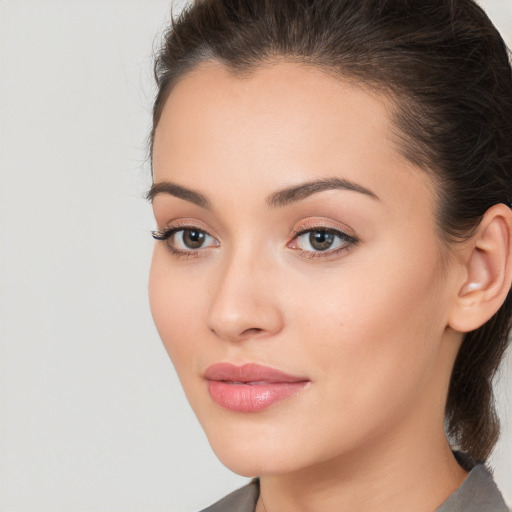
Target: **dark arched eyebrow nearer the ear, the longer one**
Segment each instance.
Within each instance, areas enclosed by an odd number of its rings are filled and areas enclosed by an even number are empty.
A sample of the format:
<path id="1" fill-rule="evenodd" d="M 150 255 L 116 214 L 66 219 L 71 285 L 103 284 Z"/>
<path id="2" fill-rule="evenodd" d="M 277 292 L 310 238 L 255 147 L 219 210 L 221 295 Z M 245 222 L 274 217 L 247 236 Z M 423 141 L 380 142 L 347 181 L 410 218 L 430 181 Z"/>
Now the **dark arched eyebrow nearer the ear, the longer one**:
<path id="1" fill-rule="evenodd" d="M 307 183 L 302 183 L 300 185 L 288 187 L 280 190 L 279 192 L 275 192 L 267 198 L 267 204 L 270 208 L 280 208 L 282 206 L 301 201 L 302 199 L 306 199 L 307 197 L 318 192 L 323 192 L 324 190 L 338 189 L 359 192 L 360 194 L 369 196 L 372 199 L 379 199 L 371 190 L 363 187 L 362 185 L 358 185 L 353 181 L 340 178 L 327 178 L 308 181 Z"/>

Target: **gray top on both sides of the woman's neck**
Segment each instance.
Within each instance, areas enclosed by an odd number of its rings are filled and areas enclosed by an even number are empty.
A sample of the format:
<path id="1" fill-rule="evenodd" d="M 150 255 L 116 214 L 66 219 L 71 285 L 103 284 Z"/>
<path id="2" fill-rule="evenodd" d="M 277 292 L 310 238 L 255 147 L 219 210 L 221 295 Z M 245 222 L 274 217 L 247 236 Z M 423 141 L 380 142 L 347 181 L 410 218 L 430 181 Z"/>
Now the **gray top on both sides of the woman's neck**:
<path id="1" fill-rule="evenodd" d="M 259 482 L 254 479 L 241 489 L 204 509 L 202 512 L 254 512 L 259 495 Z M 512 512 L 509 511 L 489 471 L 479 464 L 462 485 L 436 512 Z"/>

